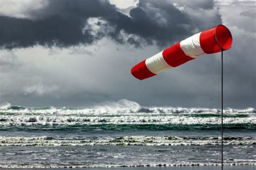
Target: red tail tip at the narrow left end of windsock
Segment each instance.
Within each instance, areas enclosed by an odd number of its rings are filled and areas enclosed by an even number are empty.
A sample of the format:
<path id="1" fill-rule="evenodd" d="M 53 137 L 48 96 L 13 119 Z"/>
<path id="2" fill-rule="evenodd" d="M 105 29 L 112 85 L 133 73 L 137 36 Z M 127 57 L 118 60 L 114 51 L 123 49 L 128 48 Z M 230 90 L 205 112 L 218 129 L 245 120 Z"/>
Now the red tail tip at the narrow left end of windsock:
<path id="1" fill-rule="evenodd" d="M 150 70 L 146 66 L 145 61 L 146 60 L 138 63 L 136 66 L 132 67 L 132 69 L 131 69 L 132 75 L 139 80 L 143 80 L 143 79 L 146 79 L 146 78 L 156 75 L 156 74 L 150 72 Z"/>

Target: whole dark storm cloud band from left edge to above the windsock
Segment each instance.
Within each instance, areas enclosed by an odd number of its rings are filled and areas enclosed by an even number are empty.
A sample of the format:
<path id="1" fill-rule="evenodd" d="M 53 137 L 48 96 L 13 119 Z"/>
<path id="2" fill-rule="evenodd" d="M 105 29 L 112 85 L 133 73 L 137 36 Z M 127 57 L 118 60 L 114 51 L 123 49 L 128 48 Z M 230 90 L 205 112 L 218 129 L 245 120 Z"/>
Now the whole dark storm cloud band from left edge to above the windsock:
<path id="1" fill-rule="evenodd" d="M 202 1 L 196 3 L 196 6 L 195 3 L 188 3 L 187 8 L 212 9 L 213 2 Z M 46 8 L 34 10 L 30 15 L 33 19 L 0 17 L 0 46 L 15 48 L 39 44 L 67 47 L 92 44 L 105 36 L 120 44 L 141 46 L 143 39 L 146 44 L 156 41 L 159 46 L 166 46 L 193 34 L 195 30 L 206 29 L 205 24 L 199 24 L 200 19 L 197 16 L 191 17 L 186 10 L 182 12 L 167 1 L 140 1 L 137 8 L 130 10 L 131 17 L 128 17 L 107 1 L 56 0 L 49 1 Z M 105 20 L 105 25 L 113 29 L 92 34 L 93 30 L 84 29 L 88 25 L 87 19 L 91 17 Z M 212 18 L 214 22 L 211 26 L 221 23 L 218 14 Z M 99 27 L 105 26 L 100 21 L 96 24 Z M 126 39 L 120 36 L 122 30 L 139 38 L 133 36 Z"/>

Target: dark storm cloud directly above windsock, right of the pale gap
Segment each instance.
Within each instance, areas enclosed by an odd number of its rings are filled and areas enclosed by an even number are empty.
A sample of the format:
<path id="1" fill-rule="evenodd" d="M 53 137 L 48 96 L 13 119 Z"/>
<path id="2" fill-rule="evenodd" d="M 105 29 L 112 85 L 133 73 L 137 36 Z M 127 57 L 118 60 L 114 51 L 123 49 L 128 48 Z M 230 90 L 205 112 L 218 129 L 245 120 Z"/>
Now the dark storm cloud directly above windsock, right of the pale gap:
<path id="1" fill-rule="evenodd" d="M 165 1 L 140 1 L 137 8 L 130 10 L 130 16 L 131 18 L 118 13 L 118 17 L 108 18 L 110 23 L 116 25 L 116 32 L 112 37 L 118 42 L 122 43 L 122 39 L 117 38 L 118 32 L 124 30 L 128 34 L 142 37 L 147 44 L 157 41 L 158 45 L 164 46 L 167 42 L 177 41 L 190 34 L 194 28 L 185 13 Z"/>

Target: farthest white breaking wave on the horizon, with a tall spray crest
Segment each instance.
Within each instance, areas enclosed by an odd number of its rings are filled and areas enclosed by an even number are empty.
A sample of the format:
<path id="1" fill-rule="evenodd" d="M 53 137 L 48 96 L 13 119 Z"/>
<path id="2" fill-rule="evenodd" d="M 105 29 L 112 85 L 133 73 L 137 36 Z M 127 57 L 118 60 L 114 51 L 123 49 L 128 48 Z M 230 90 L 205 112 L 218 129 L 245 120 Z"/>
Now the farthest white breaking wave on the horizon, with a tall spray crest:
<path id="1" fill-rule="evenodd" d="M 181 108 L 181 107 L 142 107 L 138 103 L 129 100 L 120 100 L 118 102 L 105 102 L 100 105 L 95 105 L 92 108 L 55 108 L 55 107 L 44 107 L 44 108 L 24 108 L 21 106 L 12 106 L 10 103 L 5 103 L 0 106 L 0 111 L 11 112 L 11 113 L 29 113 L 37 112 L 41 114 L 129 114 L 129 113 L 159 113 L 159 114 L 219 114 L 219 109 L 210 108 Z M 254 108 L 246 109 L 224 109 L 225 114 L 255 114 Z"/>

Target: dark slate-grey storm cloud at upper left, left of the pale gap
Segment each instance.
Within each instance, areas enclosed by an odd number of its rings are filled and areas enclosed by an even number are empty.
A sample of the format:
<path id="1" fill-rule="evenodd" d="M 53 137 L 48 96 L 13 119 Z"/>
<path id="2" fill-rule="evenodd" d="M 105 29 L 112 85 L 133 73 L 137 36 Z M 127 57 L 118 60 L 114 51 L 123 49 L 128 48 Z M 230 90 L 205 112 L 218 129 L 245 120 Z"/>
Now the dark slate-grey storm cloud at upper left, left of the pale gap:
<path id="1" fill-rule="evenodd" d="M 91 44 L 100 37 L 82 32 L 86 19 L 113 16 L 113 12 L 113 6 L 99 1 L 50 1 L 37 20 L 0 17 L 0 45 L 15 48 L 36 44 L 63 47 Z"/>

